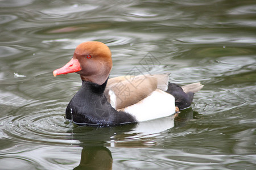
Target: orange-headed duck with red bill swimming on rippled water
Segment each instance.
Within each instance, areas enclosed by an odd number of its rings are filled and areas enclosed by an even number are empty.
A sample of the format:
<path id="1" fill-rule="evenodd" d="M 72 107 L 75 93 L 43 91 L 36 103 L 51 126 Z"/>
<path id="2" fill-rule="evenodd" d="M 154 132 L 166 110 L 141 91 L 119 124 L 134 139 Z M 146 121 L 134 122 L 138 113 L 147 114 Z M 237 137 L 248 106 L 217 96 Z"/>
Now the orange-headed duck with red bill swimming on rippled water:
<path id="1" fill-rule="evenodd" d="M 81 88 L 67 105 L 65 117 L 77 125 L 111 126 L 168 117 L 191 106 L 204 85 L 180 87 L 169 74 L 123 75 L 109 78 L 112 53 L 103 42 L 79 44 L 71 61 L 53 76 L 80 74 Z"/>

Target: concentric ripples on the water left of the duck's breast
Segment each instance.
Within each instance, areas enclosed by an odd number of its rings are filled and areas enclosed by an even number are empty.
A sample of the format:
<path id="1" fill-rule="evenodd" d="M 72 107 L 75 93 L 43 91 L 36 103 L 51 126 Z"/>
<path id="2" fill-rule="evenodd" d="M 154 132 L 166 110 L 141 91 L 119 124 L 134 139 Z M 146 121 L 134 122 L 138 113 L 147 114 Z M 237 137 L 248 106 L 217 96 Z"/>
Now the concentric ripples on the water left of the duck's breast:
<path id="1" fill-rule="evenodd" d="M 19 143 L 79 143 L 72 139 L 72 126 L 65 124 L 62 109 L 34 109 L 35 112 L 19 115 L 31 110 L 30 107 L 21 108 L 16 116 L 0 119 L 2 136 Z"/>

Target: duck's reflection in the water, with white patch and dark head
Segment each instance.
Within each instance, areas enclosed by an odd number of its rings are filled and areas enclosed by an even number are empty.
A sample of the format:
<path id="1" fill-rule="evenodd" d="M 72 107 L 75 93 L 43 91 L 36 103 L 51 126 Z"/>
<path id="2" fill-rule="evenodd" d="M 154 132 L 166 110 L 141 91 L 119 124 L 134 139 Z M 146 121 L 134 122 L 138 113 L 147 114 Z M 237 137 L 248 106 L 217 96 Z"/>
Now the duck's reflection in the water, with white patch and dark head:
<path id="1" fill-rule="evenodd" d="M 157 145 L 156 137 L 175 126 L 184 126 L 193 118 L 191 108 L 175 116 L 123 126 L 73 128 L 73 139 L 82 147 L 79 166 L 74 169 L 112 169 L 113 158 L 107 147 L 150 147 Z M 174 121 L 176 120 L 176 121 Z"/>

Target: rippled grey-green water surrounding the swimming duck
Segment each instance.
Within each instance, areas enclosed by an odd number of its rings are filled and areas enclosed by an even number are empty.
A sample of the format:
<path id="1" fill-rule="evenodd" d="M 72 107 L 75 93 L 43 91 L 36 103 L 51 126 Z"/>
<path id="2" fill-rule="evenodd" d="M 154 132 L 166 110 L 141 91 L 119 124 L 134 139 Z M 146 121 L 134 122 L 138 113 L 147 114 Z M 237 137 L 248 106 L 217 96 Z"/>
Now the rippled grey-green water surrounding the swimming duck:
<path id="1" fill-rule="evenodd" d="M 0 1 L 0 169 L 255 169 L 255 9 L 234 0 Z M 171 73 L 205 86 L 175 120 L 72 125 L 64 114 L 79 75 L 52 71 L 83 41 L 110 47 L 110 76 Z"/>

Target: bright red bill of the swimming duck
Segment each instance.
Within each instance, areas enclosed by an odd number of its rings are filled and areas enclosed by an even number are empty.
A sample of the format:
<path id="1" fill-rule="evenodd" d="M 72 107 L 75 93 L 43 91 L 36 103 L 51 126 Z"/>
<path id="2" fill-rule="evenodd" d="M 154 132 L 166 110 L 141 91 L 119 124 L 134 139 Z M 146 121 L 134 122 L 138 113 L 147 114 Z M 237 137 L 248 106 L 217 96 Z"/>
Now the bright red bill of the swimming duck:
<path id="1" fill-rule="evenodd" d="M 53 76 L 57 76 L 60 74 L 68 74 L 68 73 L 75 73 L 81 70 L 80 63 L 77 59 L 71 59 L 65 66 L 61 67 L 60 69 L 53 71 Z"/>

